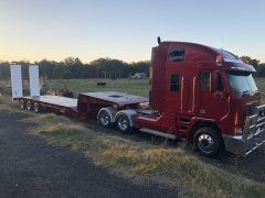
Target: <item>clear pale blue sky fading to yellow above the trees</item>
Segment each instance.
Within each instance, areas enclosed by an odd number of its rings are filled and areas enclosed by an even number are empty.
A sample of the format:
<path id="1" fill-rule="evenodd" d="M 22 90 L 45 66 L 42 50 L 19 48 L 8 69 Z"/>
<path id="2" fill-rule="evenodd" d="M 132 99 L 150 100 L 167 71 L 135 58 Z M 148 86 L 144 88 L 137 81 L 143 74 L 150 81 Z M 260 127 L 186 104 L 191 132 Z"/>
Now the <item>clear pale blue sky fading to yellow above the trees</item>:
<path id="1" fill-rule="evenodd" d="M 149 61 L 157 36 L 265 62 L 265 1 L 0 0 L 0 61 Z"/>

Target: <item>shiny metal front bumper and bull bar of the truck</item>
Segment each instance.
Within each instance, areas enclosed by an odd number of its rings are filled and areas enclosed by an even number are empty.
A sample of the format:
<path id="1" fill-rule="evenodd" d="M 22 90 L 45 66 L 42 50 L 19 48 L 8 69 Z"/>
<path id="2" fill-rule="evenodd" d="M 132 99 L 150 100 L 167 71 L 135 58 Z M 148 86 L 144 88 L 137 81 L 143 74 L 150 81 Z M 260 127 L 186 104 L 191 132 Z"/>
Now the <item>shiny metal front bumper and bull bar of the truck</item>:
<path id="1" fill-rule="evenodd" d="M 225 150 L 246 156 L 265 144 L 265 106 L 257 107 L 257 114 L 246 118 L 242 135 L 223 134 Z"/>

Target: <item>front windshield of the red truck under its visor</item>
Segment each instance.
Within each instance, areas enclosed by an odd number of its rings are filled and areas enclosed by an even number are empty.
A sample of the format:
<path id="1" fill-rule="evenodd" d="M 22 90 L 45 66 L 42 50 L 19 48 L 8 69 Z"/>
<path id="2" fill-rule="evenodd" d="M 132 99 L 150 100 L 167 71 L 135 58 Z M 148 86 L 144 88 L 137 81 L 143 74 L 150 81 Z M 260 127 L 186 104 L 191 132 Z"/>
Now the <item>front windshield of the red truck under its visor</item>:
<path id="1" fill-rule="evenodd" d="M 255 95 L 258 92 L 256 84 L 250 73 L 227 72 L 231 88 L 243 95 Z"/>

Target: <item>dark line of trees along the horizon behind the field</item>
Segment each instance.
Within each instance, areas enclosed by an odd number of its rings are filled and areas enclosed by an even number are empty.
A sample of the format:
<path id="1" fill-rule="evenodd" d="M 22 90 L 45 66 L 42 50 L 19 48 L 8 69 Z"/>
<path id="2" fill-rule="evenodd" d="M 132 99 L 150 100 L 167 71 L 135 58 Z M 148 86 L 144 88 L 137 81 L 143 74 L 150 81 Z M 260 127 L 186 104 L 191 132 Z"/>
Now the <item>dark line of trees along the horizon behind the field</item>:
<path id="1" fill-rule="evenodd" d="M 265 63 L 242 56 L 241 59 L 253 65 L 257 70 L 257 77 L 265 77 Z M 10 78 L 9 62 L 0 62 L 0 80 Z M 22 76 L 29 77 L 26 61 L 17 62 L 22 66 Z M 40 76 L 45 79 L 72 79 L 72 78 L 127 78 L 136 73 L 148 75 L 150 62 L 126 63 L 119 59 L 98 58 L 89 64 L 84 64 L 77 57 L 67 57 L 62 62 L 42 59 L 34 64 L 40 66 Z"/>

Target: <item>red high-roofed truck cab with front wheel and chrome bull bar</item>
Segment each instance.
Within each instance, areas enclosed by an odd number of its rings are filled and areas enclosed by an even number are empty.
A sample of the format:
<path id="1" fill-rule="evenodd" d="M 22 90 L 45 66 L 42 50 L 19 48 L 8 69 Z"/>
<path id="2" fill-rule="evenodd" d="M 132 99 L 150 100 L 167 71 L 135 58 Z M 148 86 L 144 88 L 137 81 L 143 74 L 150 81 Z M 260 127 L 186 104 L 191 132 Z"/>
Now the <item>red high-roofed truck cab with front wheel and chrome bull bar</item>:
<path id="1" fill-rule="evenodd" d="M 194 43 L 162 42 L 152 48 L 150 108 L 140 130 L 187 139 L 215 156 L 223 148 L 247 155 L 265 142 L 265 107 L 255 68 L 230 52 Z"/>

